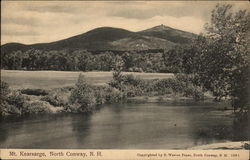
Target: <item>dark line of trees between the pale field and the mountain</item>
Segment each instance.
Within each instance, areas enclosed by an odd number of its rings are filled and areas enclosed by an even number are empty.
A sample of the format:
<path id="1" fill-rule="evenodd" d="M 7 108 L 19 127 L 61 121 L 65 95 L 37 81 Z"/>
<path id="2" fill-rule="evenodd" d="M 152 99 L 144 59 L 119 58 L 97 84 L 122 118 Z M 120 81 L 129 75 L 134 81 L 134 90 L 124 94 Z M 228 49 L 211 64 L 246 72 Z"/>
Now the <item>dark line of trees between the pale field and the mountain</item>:
<path id="1" fill-rule="evenodd" d="M 62 70 L 62 71 L 111 71 L 121 61 L 123 71 L 164 72 L 163 52 L 141 53 L 111 51 L 93 54 L 86 50 L 36 50 L 2 53 L 2 69 L 10 70 Z M 171 72 L 171 70 L 170 70 Z"/>

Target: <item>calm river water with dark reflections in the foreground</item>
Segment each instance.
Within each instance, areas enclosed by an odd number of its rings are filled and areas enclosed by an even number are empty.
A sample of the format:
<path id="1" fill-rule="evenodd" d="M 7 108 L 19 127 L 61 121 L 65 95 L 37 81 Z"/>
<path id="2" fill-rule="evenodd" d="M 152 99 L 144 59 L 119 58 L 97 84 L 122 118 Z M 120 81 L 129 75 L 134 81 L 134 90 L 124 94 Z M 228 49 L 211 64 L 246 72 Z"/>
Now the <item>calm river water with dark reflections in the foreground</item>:
<path id="1" fill-rule="evenodd" d="M 0 148 L 183 149 L 247 139 L 214 104 L 116 104 L 0 123 Z"/>

